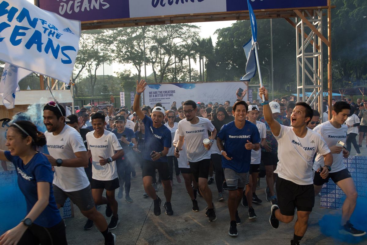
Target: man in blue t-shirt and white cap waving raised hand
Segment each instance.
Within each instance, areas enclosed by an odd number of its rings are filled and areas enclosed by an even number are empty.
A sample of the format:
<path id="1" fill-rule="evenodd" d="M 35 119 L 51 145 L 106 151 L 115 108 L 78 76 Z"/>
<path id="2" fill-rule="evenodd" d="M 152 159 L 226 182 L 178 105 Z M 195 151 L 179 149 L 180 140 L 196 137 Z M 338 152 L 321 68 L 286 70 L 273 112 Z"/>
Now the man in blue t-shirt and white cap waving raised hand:
<path id="1" fill-rule="evenodd" d="M 164 203 L 164 209 L 166 209 L 166 215 L 173 215 L 171 206 L 172 187 L 170 183 L 170 170 L 168 167 L 167 154 L 168 149 L 172 145 L 171 131 L 162 124 L 165 116 L 164 109 L 162 107 L 155 107 L 152 110 L 152 118 L 146 116 L 139 107 L 140 95 L 145 90 L 146 82 L 141 80 L 137 81 L 137 94 L 134 100 L 134 111 L 142 118 L 142 122 L 145 127 L 144 138 L 144 150 L 143 159 L 145 160 L 143 165 L 143 184 L 145 192 L 154 200 L 154 214 L 160 215 L 161 199 L 156 195 L 154 187 L 152 186 L 153 176 L 155 176 L 156 169 L 158 170 L 159 177 L 162 180 L 164 188 L 164 196 L 166 202 Z"/>

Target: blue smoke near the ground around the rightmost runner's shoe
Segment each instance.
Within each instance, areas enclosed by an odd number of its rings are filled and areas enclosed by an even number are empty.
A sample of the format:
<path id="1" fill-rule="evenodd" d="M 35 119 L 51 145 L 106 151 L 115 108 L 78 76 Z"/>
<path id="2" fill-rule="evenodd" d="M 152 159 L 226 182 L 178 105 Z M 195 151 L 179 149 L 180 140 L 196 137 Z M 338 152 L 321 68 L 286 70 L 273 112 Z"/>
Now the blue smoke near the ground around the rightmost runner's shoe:
<path id="1" fill-rule="evenodd" d="M 352 217 L 350 217 L 350 223 L 357 230 L 367 231 L 367 198 L 361 197 L 357 199 L 357 205 L 353 212 Z M 323 234 L 328 237 L 335 239 L 335 242 L 348 242 L 351 244 L 357 244 L 362 241 L 367 240 L 367 235 L 363 237 L 353 237 L 352 235 L 339 234 L 341 221 L 341 212 L 337 215 L 324 215 L 324 217 L 319 221 L 320 230 Z"/>

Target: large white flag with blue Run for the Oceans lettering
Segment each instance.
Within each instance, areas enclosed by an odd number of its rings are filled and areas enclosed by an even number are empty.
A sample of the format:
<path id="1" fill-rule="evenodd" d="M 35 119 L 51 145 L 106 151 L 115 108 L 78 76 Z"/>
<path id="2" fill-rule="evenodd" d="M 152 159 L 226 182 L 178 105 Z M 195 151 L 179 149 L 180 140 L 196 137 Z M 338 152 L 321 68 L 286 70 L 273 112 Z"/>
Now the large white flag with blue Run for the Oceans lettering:
<path id="1" fill-rule="evenodd" d="M 0 60 L 69 83 L 81 26 L 27 0 L 0 0 Z"/>

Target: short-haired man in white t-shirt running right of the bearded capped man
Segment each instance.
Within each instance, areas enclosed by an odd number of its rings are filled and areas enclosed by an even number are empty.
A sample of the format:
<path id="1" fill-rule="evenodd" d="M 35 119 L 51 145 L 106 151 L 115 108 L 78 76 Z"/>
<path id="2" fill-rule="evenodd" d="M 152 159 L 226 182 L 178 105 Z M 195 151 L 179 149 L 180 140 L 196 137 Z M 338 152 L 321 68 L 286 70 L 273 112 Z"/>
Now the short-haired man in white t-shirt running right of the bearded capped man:
<path id="1" fill-rule="evenodd" d="M 107 204 L 106 216 L 111 217 L 108 225 L 113 230 L 120 223 L 117 215 L 118 203 L 115 190 L 120 187 L 117 178 L 116 160 L 121 159 L 124 151 L 114 133 L 105 130 L 105 117 L 101 113 L 92 115 L 94 131 L 87 133 L 88 158 L 92 158 L 92 196 L 96 205 Z M 116 152 L 116 153 L 115 153 Z M 103 190 L 106 189 L 106 197 Z"/>

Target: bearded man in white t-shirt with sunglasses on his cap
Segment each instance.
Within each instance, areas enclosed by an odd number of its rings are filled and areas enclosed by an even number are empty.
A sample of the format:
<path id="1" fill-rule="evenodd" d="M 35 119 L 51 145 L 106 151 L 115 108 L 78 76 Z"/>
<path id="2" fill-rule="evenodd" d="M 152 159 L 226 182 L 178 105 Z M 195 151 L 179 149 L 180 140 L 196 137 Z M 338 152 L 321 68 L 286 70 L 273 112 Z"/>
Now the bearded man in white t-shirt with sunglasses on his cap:
<path id="1" fill-rule="evenodd" d="M 116 236 L 109 231 L 105 217 L 94 205 L 91 186 L 84 167 L 88 167 L 87 150 L 78 131 L 65 125 L 65 109 L 54 101 L 43 108 L 43 123 L 47 131 L 48 161 L 55 169 L 54 196 L 57 208 L 69 197 L 80 212 L 92 220 L 105 238 L 105 245 L 113 245 Z"/>

